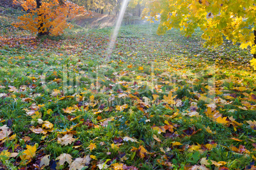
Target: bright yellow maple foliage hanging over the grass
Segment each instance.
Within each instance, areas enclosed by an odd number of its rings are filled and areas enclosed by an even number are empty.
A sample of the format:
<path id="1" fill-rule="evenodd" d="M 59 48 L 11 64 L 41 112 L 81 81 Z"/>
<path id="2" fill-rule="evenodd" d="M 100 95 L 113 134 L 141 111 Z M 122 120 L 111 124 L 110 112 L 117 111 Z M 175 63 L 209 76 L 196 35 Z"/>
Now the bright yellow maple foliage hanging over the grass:
<path id="1" fill-rule="evenodd" d="M 190 35 L 199 27 L 206 45 L 222 45 L 225 37 L 241 48 L 250 47 L 254 56 L 250 62 L 256 70 L 255 15 L 255 0 L 146 1 L 143 11 L 150 20 L 160 16 L 159 34 L 175 28 Z"/>

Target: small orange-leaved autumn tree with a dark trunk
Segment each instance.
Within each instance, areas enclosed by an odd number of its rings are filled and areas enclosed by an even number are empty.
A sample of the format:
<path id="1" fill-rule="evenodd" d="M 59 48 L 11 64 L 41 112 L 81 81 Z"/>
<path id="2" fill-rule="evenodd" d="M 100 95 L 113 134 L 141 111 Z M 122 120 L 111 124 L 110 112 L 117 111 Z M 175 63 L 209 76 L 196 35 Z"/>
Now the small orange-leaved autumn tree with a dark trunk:
<path id="1" fill-rule="evenodd" d="M 14 0 L 14 3 L 20 3 L 28 13 L 18 17 L 20 22 L 13 25 L 37 32 L 38 36 L 58 36 L 72 27 L 68 20 L 82 13 L 89 15 L 83 7 L 64 0 Z"/>

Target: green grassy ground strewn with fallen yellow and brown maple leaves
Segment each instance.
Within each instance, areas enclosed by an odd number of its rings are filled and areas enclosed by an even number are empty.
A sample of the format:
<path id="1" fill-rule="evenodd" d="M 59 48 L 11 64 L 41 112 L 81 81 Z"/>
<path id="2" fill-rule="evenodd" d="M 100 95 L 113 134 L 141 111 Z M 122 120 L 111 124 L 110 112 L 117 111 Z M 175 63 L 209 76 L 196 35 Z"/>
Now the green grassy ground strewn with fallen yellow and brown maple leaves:
<path id="1" fill-rule="evenodd" d="M 106 55 L 111 27 L 37 39 L 0 17 L 2 169 L 255 169 L 248 51 L 148 24 Z"/>

